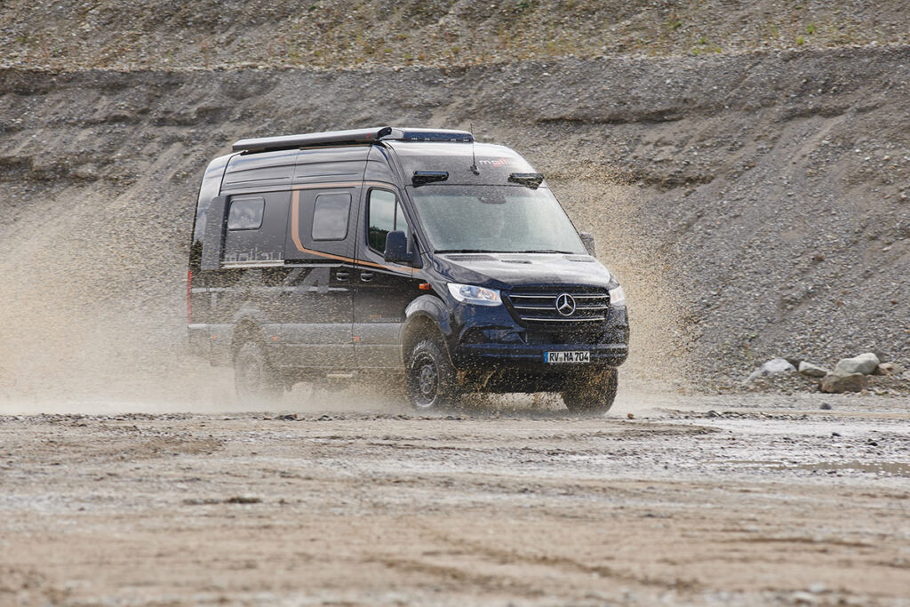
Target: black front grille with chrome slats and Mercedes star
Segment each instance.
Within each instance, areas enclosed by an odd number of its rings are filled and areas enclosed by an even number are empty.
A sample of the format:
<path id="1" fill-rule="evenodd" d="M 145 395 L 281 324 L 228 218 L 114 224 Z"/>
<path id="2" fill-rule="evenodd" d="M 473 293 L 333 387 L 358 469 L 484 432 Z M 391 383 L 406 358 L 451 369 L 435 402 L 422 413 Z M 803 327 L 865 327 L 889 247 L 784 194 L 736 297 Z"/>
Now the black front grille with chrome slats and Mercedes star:
<path id="1" fill-rule="evenodd" d="M 574 303 L 574 310 L 569 312 L 566 298 Z M 561 299 L 560 299 L 561 298 Z M 521 287 L 513 288 L 506 299 L 512 314 L 527 326 L 571 326 L 584 323 L 603 322 L 610 309 L 610 295 L 605 288 L 596 287 Z M 562 312 L 557 309 L 557 299 L 563 305 Z"/>

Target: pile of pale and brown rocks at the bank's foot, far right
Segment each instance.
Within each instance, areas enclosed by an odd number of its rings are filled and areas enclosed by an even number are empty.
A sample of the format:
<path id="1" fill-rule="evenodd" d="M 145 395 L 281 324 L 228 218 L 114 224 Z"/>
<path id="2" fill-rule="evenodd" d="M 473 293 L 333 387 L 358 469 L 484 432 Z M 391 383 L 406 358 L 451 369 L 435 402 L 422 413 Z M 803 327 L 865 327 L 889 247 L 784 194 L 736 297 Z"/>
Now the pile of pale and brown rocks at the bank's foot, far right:
<path id="1" fill-rule="evenodd" d="M 817 385 L 823 392 L 859 392 L 866 389 L 867 377 L 870 375 L 901 376 L 904 373 L 901 365 L 882 358 L 882 355 L 875 352 L 865 352 L 853 358 L 838 360 L 834 370 L 825 369 L 808 360 L 771 359 L 755 369 L 744 383 L 751 384 L 760 378 L 798 373 L 806 378 L 819 379 Z"/>

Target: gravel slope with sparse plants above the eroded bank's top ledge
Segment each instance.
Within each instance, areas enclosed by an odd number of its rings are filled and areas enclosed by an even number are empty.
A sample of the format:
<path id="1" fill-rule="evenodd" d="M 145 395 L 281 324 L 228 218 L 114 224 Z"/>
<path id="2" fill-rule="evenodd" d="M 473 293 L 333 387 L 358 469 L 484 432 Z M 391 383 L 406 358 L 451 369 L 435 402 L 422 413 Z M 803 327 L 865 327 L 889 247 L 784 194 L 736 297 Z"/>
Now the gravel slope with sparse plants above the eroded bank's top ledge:
<path id="1" fill-rule="evenodd" d="M 474 66 L 907 44 L 905 0 L 7 0 L 0 62 L 74 69 Z"/>

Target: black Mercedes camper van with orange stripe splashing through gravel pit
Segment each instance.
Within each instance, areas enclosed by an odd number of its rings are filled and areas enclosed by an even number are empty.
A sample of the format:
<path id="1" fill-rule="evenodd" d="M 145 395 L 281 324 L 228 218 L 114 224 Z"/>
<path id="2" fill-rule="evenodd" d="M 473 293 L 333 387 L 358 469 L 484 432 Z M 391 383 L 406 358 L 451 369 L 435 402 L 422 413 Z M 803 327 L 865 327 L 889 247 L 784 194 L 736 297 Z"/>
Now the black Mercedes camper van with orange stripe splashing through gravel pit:
<path id="1" fill-rule="evenodd" d="M 610 409 L 622 287 L 516 152 L 389 126 L 233 149 L 199 190 L 187 322 L 241 400 L 403 376 L 419 409 L 470 391 Z"/>

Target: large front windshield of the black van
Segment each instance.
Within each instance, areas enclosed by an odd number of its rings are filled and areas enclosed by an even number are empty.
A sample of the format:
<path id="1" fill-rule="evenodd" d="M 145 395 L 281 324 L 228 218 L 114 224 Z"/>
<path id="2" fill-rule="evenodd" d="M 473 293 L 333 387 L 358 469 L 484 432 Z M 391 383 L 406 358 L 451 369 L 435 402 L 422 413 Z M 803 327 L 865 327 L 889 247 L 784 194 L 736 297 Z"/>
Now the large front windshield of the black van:
<path id="1" fill-rule="evenodd" d="M 545 187 L 410 187 L 438 253 L 586 253 L 575 227 Z"/>

